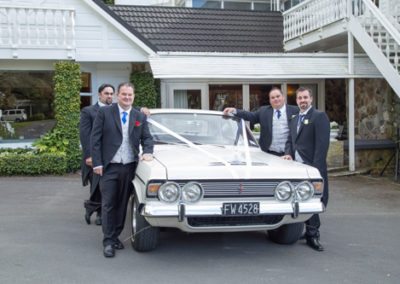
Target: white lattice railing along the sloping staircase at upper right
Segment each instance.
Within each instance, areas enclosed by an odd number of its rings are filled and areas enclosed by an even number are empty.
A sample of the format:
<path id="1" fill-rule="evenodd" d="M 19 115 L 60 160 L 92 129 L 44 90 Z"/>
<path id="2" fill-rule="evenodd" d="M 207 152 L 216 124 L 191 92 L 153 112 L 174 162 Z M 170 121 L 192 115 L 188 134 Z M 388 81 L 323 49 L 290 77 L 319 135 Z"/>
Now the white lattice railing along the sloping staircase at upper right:
<path id="1" fill-rule="evenodd" d="M 400 32 L 371 0 L 358 0 L 353 9 L 365 32 L 373 39 L 392 66 L 400 71 Z"/>

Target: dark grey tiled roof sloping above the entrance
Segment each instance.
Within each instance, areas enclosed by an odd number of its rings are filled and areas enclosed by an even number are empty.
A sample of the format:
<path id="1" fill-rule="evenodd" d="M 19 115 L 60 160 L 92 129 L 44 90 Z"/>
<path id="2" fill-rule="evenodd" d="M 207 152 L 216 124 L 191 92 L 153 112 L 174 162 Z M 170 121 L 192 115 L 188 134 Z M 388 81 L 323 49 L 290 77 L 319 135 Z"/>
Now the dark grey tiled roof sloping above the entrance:
<path id="1" fill-rule="evenodd" d="M 283 52 L 280 12 L 94 2 L 154 51 Z"/>

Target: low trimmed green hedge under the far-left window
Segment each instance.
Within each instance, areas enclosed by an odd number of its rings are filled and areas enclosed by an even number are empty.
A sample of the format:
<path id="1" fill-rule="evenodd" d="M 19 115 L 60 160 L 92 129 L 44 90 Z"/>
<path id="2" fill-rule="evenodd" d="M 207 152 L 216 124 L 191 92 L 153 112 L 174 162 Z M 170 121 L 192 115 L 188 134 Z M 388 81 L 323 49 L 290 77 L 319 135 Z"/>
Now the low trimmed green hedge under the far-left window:
<path id="1" fill-rule="evenodd" d="M 65 153 L 38 154 L 33 150 L 17 149 L 0 152 L 0 176 L 62 175 L 67 171 Z"/>

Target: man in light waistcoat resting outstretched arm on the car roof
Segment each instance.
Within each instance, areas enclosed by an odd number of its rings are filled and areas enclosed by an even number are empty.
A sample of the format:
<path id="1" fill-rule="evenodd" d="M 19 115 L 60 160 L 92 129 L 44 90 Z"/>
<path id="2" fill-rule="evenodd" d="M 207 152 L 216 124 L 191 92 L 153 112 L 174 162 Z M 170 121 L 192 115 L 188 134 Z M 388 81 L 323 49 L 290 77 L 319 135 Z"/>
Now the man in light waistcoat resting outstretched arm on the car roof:
<path id="1" fill-rule="evenodd" d="M 255 112 L 226 108 L 224 114 L 233 113 L 253 124 L 259 123 L 261 126 L 259 139 L 261 150 L 276 156 L 283 156 L 289 135 L 289 121 L 299 110 L 296 106 L 285 104 L 282 91 L 276 87 L 269 92 L 269 102 L 270 106 L 262 106 Z"/>

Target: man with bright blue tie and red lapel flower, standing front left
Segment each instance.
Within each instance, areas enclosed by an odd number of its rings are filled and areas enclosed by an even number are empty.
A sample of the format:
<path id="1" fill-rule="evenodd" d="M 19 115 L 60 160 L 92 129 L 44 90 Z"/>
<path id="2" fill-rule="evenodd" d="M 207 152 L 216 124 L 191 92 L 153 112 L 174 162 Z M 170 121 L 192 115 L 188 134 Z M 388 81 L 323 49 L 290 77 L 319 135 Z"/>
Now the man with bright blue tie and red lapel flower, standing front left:
<path id="1" fill-rule="evenodd" d="M 115 249 L 123 249 L 121 234 L 132 192 L 132 180 L 139 160 L 153 159 L 153 138 L 146 115 L 132 108 L 134 86 L 118 86 L 118 103 L 100 108 L 91 136 L 93 171 L 100 175 L 102 193 L 103 254 L 113 257 Z"/>

